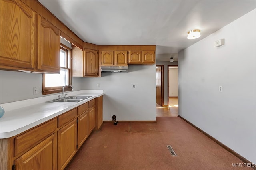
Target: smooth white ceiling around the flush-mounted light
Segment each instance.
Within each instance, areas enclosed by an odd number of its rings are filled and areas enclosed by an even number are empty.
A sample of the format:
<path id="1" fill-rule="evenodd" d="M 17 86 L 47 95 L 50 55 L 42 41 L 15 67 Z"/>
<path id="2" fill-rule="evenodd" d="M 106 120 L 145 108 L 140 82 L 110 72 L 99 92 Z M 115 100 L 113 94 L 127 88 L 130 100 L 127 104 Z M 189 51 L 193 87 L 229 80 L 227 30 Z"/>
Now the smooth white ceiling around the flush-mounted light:
<path id="1" fill-rule="evenodd" d="M 255 0 L 38 0 L 84 42 L 156 45 L 156 61 L 178 52 L 256 8 Z M 188 40 L 187 32 L 201 37 Z"/>

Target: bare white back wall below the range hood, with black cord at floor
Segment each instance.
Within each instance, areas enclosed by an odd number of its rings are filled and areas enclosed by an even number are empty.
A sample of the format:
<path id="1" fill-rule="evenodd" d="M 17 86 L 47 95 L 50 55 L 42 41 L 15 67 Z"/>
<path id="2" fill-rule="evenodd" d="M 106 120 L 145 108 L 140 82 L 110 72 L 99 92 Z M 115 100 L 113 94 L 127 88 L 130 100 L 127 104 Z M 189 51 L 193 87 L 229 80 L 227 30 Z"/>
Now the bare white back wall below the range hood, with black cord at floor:
<path id="1" fill-rule="evenodd" d="M 82 88 L 104 90 L 103 120 L 111 120 L 112 115 L 125 121 L 156 120 L 155 65 L 129 65 L 128 73 L 102 73 L 102 77 L 83 78 Z"/>

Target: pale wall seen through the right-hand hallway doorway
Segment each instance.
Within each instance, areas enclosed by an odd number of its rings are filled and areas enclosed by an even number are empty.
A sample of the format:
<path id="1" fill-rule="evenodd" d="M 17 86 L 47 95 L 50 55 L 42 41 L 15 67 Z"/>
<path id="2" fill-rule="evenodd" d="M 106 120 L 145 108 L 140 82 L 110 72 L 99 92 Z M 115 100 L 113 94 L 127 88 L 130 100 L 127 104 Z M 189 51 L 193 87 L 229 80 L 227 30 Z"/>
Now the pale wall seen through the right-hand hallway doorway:
<path id="1" fill-rule="evenodd" d="M 178 97 L 178 68 L 169 68 L 169 97 Z"/>

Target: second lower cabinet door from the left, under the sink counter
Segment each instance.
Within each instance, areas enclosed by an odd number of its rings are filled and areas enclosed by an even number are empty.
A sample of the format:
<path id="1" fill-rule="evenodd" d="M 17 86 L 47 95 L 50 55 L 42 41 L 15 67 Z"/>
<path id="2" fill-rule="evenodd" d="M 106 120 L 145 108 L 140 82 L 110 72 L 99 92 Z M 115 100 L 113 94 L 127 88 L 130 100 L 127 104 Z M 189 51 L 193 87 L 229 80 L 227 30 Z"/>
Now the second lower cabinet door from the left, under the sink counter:
<path id="1" fill-rule="evenodd" d="M 76 153 L 76 119 L 58 130 L 58 170 L 63 170 Z"/>

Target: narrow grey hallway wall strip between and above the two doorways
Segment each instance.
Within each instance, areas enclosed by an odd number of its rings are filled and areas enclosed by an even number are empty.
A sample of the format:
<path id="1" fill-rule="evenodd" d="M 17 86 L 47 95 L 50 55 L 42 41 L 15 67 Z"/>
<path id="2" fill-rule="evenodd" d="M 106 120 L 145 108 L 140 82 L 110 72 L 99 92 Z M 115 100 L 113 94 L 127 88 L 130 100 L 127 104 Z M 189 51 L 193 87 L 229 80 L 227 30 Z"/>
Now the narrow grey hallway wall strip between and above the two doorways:
<path id="1" fill-rule="evenodd" d="M 164 105 L 168 105 L 168 65 L 178 65 L 178 62 L 156 61 L 156 65 L 164 65 Z"/>

